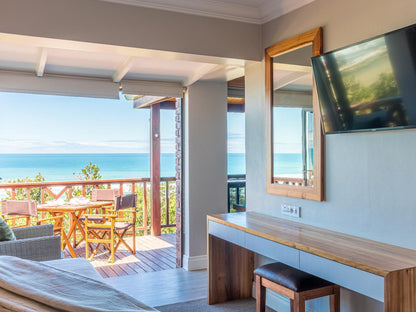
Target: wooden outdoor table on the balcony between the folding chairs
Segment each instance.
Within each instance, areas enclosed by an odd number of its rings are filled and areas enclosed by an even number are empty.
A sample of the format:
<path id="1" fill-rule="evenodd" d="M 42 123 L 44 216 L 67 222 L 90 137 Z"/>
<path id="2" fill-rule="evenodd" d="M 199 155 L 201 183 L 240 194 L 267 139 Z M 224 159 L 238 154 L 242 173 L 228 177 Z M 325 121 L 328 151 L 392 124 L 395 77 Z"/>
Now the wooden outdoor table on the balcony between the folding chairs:
<path id="1" fill-rule="evenodd" d="M 64 250 L 65 245 L 68 246 L 68 250 L 71 253 L 72 257 L 76 258 L 75 251 L 74 251 L 74 247 L 76 243 L 74 243 L 74 245 L 71 245 L 70 239 L 72 236 L 75 237 L 77 228 L 80 230 L 82 237 L 85 237 L 84 228 L 79 222 L 79 218 L 87 209 L 100 208 L 103 206 L 111 206 L 111 205 L 113 205 L 112 201 L 90 202 L 88 204 L 82 204 L 82 205 L 68 203 L 64 205 L 51 206 L 51 205 L 44 204 L 44 205 L 38 206 L 38 211 L 49 212 L 54 217 L 63 216 L 66 213 L 69 214 L 69 218 L 70 220 L 72 220 L 72 222 L 70 223 L 71 226 L 67 233 L 65 233 L 65 231 L 62 231 L 63 240 L 61 242 L 61 247 L 62 247 L 62 250 Z M 57 224 L 57 226 L 62 226 L 62 224 Z"/>

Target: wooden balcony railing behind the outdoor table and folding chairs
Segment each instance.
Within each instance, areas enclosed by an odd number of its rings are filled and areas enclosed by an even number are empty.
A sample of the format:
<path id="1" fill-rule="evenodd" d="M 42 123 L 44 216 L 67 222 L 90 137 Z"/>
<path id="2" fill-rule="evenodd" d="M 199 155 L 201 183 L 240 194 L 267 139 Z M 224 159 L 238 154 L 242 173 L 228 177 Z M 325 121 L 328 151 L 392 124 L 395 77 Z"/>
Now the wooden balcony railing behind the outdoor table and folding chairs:
<path id="1" fill-rule="evenodd" d="M 161 227 L 176 227 L 176 179 L 163 177 L 161 180 Z M 89 180 L 89 181 L 57 181 L 57 182 L 25 182 L 1 183 L 0 190 L 6 192 L 10 199 L 32 199 L 44 204 L 50 199 L 64 198 L 70 200 L 75 196 L 89 196 L 92 188 L 119 188 L 120 194 L 125 192 L 138 194 L 137 230 L 144 234 L 150 230 L 150 178 Z M 173 209 L 169 209 L 173 207 Z"/>

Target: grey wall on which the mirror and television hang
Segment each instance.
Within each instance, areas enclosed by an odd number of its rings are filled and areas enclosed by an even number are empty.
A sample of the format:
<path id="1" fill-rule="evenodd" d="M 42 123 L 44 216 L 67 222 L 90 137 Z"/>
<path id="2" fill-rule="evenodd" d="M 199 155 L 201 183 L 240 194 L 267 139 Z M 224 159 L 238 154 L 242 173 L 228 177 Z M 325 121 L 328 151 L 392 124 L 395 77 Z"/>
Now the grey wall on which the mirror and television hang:
<path id="1" fill-rule="evenodd" d="M 316 0 L 263 25 L 263 48 L 323 26 L 328 51 L 413 24 L 415 16 L 414 0 Z M 283 217 L 280 205 L 294 203 L 302 207 L 299 222 L 416 249 L 416 130 L 328 135 L 325 202 L 266 195 L 264 63 L 246 67 L 246 96 L 248 210 Z M 323 301 L 315 305 L 327 311 Z M 342 311 L 383 305 L 344 290 Z"/>

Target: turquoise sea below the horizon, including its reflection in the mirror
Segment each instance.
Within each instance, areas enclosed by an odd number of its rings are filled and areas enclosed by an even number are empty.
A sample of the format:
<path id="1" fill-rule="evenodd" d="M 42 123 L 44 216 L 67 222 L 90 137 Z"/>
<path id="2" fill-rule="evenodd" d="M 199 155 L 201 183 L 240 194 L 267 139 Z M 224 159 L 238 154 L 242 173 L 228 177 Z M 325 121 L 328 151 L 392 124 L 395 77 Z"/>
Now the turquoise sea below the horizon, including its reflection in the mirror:
<path id="1" fill-rule="evenodd" d="M 275 159 L 277 173 L 301 172 L 301 155 L 278 154 Z M 103 179 L 150 177 L 149 154 L 0 154 L 0 177 L 6 182 L 40 172 L 46 181 L 73 181 L 89 163 L 100 168 Z M 228 174 L 245 174 L 245 164 L 244 154 L 228 154 Z M 162 153 L 160 167 L 162 177 L 174 177 L 175 154 Z"/>

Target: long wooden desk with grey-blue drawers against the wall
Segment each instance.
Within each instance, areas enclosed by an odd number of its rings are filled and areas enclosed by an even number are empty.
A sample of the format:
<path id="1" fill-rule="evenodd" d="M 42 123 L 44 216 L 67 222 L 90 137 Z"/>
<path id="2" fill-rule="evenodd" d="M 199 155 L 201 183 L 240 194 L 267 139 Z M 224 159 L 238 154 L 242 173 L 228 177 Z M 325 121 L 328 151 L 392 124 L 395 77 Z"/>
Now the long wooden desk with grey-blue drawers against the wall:
<path id="1" fill-rule="evenodd" d="M 384 302 L 416 311 L 416 250 L 255 212 L 208 222 L 208 304 L 251 296 L 254 253 Z"/>

